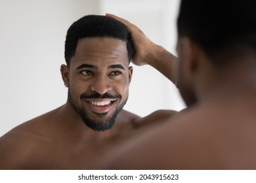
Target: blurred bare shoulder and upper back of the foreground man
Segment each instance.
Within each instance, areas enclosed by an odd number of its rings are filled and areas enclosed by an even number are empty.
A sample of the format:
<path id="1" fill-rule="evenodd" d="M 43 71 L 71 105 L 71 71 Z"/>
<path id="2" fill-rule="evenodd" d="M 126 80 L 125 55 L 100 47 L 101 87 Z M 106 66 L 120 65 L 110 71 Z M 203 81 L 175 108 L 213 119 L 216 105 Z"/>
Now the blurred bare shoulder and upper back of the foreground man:
<path id="1" fill-rule="evenodd" d="M 245 110 L 245 120 L 213 108 L 188 110 L 146 131 L 113 153 L 105 169 L 255 169 L 255 114 Z"/>

